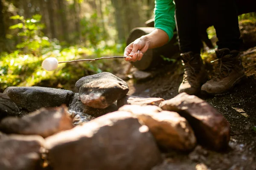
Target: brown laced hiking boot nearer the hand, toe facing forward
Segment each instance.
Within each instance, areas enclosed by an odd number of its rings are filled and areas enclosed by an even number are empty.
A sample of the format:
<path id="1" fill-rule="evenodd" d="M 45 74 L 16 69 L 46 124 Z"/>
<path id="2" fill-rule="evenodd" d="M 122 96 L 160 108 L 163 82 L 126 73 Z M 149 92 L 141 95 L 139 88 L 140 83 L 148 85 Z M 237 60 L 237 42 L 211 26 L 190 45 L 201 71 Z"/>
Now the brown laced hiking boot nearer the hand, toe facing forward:
<path id="1" fill-rule="evenodd" d="M 204 68 L 200 54 L 188 52 L 180 54 L 182 57 L 182 65 L 185 66 L 183 81 L 180 84 L 179 93 L 197 94 L 201 85 L 206 82 L 207 74 Z"/>

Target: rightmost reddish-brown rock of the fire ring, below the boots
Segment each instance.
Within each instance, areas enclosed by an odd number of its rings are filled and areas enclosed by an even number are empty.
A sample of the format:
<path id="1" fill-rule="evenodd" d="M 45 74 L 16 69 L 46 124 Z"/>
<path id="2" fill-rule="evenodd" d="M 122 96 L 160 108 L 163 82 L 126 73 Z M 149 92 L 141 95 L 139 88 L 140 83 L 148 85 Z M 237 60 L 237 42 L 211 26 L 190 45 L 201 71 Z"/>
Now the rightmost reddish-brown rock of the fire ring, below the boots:
<path id="1" fill-rule="evenodd" d="M 230 140 L 230 124 L 211 105 L 197 96 L 181 93 L 160 103 L 166 111 L 178 112 L 192 126 L 198 143 L 214 150 L 223 150 Z"/>

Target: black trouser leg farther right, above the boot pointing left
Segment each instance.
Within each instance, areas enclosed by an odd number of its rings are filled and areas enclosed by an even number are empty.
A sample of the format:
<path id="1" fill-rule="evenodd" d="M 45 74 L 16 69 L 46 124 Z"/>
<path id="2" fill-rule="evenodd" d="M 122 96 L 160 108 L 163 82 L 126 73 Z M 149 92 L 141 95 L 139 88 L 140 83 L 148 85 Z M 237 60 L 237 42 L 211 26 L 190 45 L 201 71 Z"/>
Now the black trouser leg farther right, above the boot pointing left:
<path id="1" fill-rule="evenodd" d="M 207 0 L 213 26 L 218 37 L 218 48 L 239 50 L 240 39 L 236 0 Z"/>

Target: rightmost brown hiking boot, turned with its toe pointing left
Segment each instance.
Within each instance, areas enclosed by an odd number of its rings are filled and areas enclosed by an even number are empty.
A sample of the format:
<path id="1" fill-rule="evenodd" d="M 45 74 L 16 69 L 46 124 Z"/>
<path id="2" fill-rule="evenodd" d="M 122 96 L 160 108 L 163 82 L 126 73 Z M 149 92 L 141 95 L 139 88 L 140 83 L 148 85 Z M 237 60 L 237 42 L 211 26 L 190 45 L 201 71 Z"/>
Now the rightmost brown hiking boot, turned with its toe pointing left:
<path id="1" fill-rule="evenodd" d="M 218 61 L 215 74 L 206 82 L 201 91 L 208 94 L 218 95 L 226 93 L 245 77 L 244 67 L 241 62 L 239 51 L 230 51 L 228 48 L 215 49 Z"/>

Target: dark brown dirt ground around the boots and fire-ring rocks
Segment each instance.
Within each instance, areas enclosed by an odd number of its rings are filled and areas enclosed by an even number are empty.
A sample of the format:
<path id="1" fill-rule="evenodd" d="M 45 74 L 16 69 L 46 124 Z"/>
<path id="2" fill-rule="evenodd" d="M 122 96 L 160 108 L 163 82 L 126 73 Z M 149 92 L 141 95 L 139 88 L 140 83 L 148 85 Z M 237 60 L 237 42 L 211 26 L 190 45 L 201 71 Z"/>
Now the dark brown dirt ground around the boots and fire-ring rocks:
<path id="1" fill-rule="evenodd" d="M 192 153 L 163 154 L 163 164 L 153 170 L 256 170 L 256 48 L 241 53 L 247 79 L 236 85 L 224 96 L 202 96 L 216 108 L 231 125 L 229 148 L 214 152 L 201 146 Z M 254 50 L 254 52 L 253 52 Z M 209 61 L 214 54 L 204 59 L 209 74 Z M 149 71 L 153 78 L 143 82 L 128 80 L 129 95 L 171 99 L 178 94 L 183 68 L 178 61 L 172 65 Z"/>

